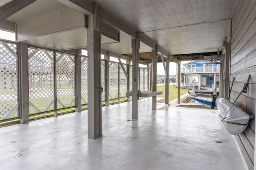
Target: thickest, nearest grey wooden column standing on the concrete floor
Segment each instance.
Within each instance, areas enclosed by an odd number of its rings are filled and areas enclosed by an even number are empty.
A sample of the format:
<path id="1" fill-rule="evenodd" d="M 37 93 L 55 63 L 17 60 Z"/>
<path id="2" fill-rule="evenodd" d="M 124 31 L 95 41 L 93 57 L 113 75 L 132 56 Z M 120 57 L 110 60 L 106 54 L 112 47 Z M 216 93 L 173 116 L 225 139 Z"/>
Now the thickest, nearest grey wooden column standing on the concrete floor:
<path id="1" fill-rule="evenodd" d="M 102 136 L 100 6 L 88 16 L 88 138 Z"/>

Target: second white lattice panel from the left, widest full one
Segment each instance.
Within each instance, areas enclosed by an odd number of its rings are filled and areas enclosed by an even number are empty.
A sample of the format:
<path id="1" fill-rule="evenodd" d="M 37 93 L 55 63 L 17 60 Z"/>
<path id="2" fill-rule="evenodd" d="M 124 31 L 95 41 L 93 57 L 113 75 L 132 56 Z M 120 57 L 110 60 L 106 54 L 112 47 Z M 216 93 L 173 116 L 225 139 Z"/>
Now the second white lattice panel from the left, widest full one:
<path id="1" fill-rule="evenodd" d="M 54 110 L 54 51 L 28 47 L 29 113 Z"/>

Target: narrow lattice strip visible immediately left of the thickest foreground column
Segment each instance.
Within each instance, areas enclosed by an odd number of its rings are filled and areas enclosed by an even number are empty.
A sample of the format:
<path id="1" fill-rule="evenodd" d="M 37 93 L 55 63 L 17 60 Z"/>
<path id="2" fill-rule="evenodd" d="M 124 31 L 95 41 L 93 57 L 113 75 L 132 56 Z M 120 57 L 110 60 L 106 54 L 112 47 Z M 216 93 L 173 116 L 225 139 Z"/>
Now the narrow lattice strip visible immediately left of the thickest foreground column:
<path id="1" fill-rule="evenodd" d="M 88 104 L 88 58 L 81 57 L 81 95 L 82 105 Z"/>

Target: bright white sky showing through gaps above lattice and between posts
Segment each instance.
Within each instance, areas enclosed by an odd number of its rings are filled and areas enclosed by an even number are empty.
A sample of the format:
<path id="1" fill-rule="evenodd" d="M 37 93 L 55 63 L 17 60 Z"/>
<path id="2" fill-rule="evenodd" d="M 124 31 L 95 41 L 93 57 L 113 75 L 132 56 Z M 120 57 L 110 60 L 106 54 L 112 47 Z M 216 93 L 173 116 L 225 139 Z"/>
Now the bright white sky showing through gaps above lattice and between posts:
<path id="1" fill-rule="evenodd" d="M 0 38 L 10 40 L 10 41 L 15 41 L 15 33 L 0 30 Z M 83 54 L 87 55 L 87 51 L 84 51 Z M 104 55 L 102 55 L 102 59 L 104 59 Z M 118 62 L 118 59 L 116 59 L 114 57 L 110 57 L 110 61 Z M 126 64 L 125 60 L 121 59 L 121 61 L 122 61 L 122 63 Z M 187 63 L 187 62 L 188 61 L 182 61 L 181 67 L 184 67 L 182 64 Z M 146 66 L 143 64 L 139 64 L 139 67 L 146 67 Z M 170 70 L 169 70 L 170 75 L 177 74 L 176 67 L 177 67 L 176 63 L 170 62 Z M 164 66 L 162 63 L 157 63 L 157 74 L 165 75 Z"/>

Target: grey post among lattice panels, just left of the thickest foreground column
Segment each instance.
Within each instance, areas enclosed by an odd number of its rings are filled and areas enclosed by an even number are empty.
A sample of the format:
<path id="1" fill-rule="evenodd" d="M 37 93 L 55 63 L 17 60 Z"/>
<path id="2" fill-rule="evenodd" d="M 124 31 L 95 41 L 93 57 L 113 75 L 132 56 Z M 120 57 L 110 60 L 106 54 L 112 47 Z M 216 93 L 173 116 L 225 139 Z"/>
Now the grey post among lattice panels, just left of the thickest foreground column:
<path id="1" fill-rule="evenodd" d="M 82 49 L 77 50 L 76 55 L 76 112 L 82 111 L 82 94 L 81 94 L 81 55 L 82 55 Z"/>

